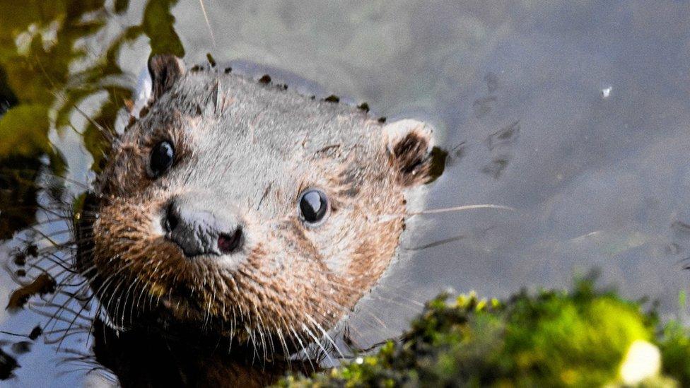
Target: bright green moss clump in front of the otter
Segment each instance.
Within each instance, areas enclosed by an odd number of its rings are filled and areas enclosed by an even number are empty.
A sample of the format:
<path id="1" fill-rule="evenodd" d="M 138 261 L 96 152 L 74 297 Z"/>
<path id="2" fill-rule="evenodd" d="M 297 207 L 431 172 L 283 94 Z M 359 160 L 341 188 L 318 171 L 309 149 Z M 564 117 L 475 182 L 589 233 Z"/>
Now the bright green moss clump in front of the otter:
<path id="1" fill-rule="evenodd" d="M 688 329 L 674 323 L 658 327 L 654 312 L 597 291 L 589 280 L 578 281 L 569 292 L 523 291 L 503 302 L 440 295 L 400 341 L 311 377 L 287 377 L 280 385 L 689 386 Z M 643 366 L 627 370 L 648 368 L 642 377 L 621 369 L 636 360 L 635 354 L 643 354 Z"/>

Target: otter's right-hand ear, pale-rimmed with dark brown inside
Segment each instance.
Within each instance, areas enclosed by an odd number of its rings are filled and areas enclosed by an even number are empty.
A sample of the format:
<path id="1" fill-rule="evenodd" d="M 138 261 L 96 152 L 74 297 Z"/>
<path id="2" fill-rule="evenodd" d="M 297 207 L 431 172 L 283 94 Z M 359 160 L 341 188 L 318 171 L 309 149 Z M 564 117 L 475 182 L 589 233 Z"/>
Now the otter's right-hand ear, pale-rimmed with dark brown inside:
<path id="1" fill-rule="evenodd" d="M 388 160 L 402 186 L 416 186 L 430 179 L 432 133 L 431 126 L 411 119 L 383 127 Z"/>

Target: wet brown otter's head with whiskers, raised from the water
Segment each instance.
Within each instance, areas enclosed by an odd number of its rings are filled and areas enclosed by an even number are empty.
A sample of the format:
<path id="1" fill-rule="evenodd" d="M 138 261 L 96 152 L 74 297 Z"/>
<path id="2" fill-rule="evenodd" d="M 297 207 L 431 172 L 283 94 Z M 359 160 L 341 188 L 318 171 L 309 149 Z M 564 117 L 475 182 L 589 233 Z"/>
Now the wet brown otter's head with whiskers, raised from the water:
<path id="1" fill-rule="evenodd" d="M 175 57 L 149 67 L 151 104 L 99 177 L 84 264 L 110 317 L 320 336 L 394 257 L 403 192 L 428 180 L 431 129 L 186 73 Z"/>

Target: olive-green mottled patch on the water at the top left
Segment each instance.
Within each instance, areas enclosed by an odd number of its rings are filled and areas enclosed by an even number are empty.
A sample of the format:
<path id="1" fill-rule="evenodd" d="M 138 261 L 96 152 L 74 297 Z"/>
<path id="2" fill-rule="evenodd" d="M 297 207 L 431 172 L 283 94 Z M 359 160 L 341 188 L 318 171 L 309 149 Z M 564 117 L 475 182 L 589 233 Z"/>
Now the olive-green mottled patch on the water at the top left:
<path id="1" fill-rule="evenodd" d="M 53 131 L 76 131 L 91 170 L 100 170 L 118 116 L 131 100 L 122 49 L 146 37 L 152 54 L 183 55 L 170 11 L 175 4 L 147 1 L 141 23 L 110 36 L 109 18 L 125 13 L 129 1 L 0 0 L 0 238 L 35 223 L 29 210 L 37 208 L 35 181 L 42 172 L 66 180 L 69 166 L 49 139 Z M 93 52 L 86 40 L 105 44 Z"/>

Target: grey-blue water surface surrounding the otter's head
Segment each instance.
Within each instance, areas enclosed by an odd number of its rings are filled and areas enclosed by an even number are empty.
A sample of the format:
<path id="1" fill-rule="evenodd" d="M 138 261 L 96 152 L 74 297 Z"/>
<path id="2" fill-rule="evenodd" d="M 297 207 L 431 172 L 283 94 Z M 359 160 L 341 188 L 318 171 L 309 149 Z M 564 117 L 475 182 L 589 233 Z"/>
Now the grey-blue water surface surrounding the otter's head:
<path id="1" fill-rule="evenodd" d="M 37 249 L 69 240 L 67 223 L 38 206 L 69 201 L 93 180 L 107 146 L 97 127 L 122 129 L 149 54 L 193 64 L 211 53 L 291 71 L 387 117 L 432 122 L 449 158 L 426 208 L 515 208 L 417 217 L 401 259 L 353 318 L 363 342 L 394 334 L 414 301 L 441 288 L 503 296 L 567 286 L 592 268 L 686 319 L 690 4 L 456 3 L 0 1 L 0 106 L 13 105 L 0 119 L 0 238 L 14 235 L 0 246 L 0 295 L 10 300 L 17 280 L 40 273 L 16 264 L 32 254 L 23 240 Z M 29 274 L 13 280 L 21 269 Z M 70 322 L 50 335 L 40 305 L 35 296 L 0 312 L 1 330 L 41 325 L 49 342 L 0 335 L 0 364 L 21 365 L 0 383 L 82 384 L 93 367 L 79 359 L 88 320 L 51 341 Z"/>

